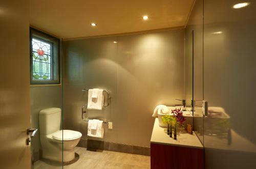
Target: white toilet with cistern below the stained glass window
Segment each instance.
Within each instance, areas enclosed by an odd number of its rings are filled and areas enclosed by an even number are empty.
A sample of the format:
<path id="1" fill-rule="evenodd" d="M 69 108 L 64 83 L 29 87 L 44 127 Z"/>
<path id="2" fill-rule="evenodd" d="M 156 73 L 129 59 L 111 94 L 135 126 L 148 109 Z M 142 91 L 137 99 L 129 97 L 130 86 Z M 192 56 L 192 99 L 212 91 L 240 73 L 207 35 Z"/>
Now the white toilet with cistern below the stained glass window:
<path id="1" fill-rule="evenodd" d="M 82 134 L 73 130 L 60 130 L 61 109 L 47 108 L 39 112 L 39 131 L 42 146 L 42 158 L 69 162 L 75 158 L 74 148 Z M 62 143 L 63 140 L 63 143 Z"/>

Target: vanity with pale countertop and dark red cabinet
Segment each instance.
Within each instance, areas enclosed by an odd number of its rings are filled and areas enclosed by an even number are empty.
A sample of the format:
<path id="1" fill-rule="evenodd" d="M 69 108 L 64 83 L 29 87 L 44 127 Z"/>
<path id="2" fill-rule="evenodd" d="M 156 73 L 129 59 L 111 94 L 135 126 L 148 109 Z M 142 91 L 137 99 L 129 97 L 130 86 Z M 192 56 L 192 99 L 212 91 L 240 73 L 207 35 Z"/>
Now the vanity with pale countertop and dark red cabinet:
<path id="1" fill-rule="evenodd" d="M 150 144 L 151 169 L 203 169 L 204 147 L 197 135 L 194 132 L 180 133 L 175 140 L 166 130 L 159 126 L 156 118 Z"/>

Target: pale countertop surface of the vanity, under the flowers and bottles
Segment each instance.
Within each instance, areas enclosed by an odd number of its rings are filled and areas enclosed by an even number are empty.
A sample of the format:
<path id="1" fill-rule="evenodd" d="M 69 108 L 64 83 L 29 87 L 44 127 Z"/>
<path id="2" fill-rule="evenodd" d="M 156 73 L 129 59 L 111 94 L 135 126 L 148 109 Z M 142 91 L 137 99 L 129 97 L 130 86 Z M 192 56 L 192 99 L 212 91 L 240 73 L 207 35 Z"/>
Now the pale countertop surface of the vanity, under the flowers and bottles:
<path id="1" fill-rule="evenodd" d="M 166 130 L 166 128 L 159 126 L 158 118 L 156 118 L 151 135 L 151 143 L 180 147 L 190 147 L 197 149 L 204 148 L 195 132 L 193 132 L 193 134 L 179 133 L 177 134 L 177 140 L 175 140 L 174 138 L 169 137 L 169 135 L 166 134 Z"/>

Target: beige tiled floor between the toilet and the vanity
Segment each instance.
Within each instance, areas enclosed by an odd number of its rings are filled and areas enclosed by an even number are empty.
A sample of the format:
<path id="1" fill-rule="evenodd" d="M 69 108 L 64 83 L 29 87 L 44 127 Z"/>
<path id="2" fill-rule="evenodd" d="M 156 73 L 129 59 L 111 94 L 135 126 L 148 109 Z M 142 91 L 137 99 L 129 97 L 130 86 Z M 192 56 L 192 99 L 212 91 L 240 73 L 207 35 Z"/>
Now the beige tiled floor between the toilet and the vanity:
<path id="1" fill-rule="evenodd" d="M 76 147 L 75 152 L 79 154 L 79 159 L 70 165 L 66 165 L 65 169 L 74 168 L 150 168 L 150 157 L 118 153 L 112 151 L 88 151 L 86 148 Z M 47 160 L 39 160 L 34 163 L 34 169 L 44 169 L 44 168 L 61 168 L 61 165 L 55 162 L 50 162 Z"/>

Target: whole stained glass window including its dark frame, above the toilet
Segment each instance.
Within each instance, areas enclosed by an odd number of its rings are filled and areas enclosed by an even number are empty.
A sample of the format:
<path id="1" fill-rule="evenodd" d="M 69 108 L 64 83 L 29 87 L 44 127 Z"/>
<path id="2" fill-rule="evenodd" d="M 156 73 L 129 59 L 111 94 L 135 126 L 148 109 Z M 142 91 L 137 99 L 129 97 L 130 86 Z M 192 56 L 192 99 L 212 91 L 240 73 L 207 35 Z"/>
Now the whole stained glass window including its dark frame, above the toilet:
<path id="1" fill-rule="evenodd" d="M 30 28 L 31 85 L 60 84 L 60 40 Z"/>

